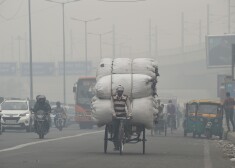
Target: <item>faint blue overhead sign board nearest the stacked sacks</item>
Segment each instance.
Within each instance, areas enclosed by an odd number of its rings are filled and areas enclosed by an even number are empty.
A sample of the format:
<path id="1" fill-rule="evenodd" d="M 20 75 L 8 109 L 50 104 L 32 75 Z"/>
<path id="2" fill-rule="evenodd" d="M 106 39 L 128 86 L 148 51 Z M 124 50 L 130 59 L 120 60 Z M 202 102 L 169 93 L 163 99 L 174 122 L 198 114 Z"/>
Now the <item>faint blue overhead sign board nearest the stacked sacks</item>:
<path id="1" fill-rule="evenodd" d="M 87 73 L 89 74 L 92 70 L 92 63 L 87 62 Z M 86 72 L 86 62 L 66 62 L 65 63 L 65 74 L 66 75 L 84 75 Z M 64 64 L 59 62 L 59 75 L 64 74 Z"/>

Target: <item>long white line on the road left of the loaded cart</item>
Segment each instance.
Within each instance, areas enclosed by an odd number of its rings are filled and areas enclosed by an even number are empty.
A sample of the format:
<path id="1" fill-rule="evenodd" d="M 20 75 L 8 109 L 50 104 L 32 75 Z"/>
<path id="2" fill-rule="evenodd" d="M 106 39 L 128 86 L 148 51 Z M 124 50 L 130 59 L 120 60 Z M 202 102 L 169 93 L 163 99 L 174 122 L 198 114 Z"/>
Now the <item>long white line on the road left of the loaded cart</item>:
<path id="1" fill-rule="evenodd" d="M 104 131 L 88 132 L 88 133 L 82 133 L 82 134 L 77 134 L 77 135 L 72 135 L 72 136 L 55 138 L 55 139 L 41 140 L 41 141 L 37 141 L 37 142 L 29 142 L 29 143 L 17 145 L 17 146 L 11 147 L 11 148 L 1 149 L 0 153 L 21 149 L 21 148 L 36 145 L 36 144 L 42 144 L 42 143 L 52 142 L 52 141 L 60 141 L 60 140 L 64 140 L 64 139 L 76 138 L 76 137 L 81 137 L 81 136 L 84 136 L 84 135 L 92 135 L 92 134 L 97 134 L 97 133 L 101 133 L 101 132 L 104 132 Z"/>

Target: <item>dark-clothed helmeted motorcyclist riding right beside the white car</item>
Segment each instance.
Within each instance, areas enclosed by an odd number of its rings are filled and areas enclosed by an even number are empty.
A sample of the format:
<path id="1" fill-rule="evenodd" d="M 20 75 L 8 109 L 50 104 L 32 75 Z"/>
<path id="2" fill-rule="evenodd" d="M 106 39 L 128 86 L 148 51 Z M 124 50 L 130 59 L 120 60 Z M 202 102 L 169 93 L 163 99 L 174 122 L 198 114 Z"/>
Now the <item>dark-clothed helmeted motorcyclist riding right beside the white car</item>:
<path id="1" fill-rule="evenodd" d="M 33 112 L 37 114 L 37 111 L 43 110 L 46 113 L 46 119 L 47 119 L 47 130 L 49 132 L 50 129 L 50 113 L 51 113 L 51 106 L 46 101 L 46 97 L 44 95 L 38 95 L 36 97 L 36 103 L 33 107 Z M 34 122 L 34 130 L 37 132 L 37 122 Z"/>

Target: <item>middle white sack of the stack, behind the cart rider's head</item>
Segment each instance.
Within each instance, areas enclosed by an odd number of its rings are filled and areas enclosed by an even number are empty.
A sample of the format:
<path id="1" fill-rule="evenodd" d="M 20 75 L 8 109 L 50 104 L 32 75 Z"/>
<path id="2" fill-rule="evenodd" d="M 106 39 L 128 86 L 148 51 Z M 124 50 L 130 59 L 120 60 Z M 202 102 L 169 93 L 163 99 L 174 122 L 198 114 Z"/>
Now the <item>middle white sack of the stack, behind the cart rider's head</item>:
<path id="1" fill-rule="evenodd" d="M 153 93 L 151 79 L 150 76 L 141 74 L 114 74 L 104 76 L 95 85 L 96 96 L 101 99 L 110 99 L 111 86 L 112 94 L 115 94 L 117 86 L 122 85 L 124 87 L 124 94 L 129 97 L 148 97 Z"/>

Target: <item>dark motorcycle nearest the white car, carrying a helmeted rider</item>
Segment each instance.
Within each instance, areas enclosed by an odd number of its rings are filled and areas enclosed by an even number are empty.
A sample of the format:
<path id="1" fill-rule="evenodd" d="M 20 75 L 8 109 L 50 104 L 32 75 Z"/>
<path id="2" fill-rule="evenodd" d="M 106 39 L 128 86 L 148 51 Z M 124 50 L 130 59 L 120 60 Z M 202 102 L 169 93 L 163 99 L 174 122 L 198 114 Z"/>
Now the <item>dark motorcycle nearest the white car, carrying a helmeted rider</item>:
<path id="1" fill-rule="evenodd" d="M 35 124 L 36 133 L 39 135 L 39 139 L 43 139 L 49 131 L 47 113 L 43 110 L 38 110 L 37 113 L 35 113 Z"/>

